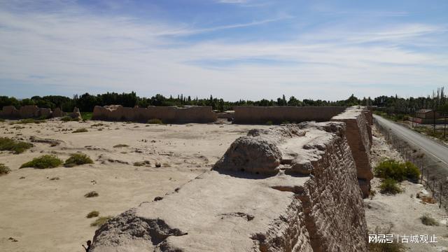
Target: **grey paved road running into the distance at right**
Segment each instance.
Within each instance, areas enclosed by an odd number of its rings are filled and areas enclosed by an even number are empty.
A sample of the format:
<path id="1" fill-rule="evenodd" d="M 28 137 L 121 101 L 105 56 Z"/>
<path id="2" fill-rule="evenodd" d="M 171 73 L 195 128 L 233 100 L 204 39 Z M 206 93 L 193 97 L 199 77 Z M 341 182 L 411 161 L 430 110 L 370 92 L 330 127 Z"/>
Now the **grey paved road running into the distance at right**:
<path id="1" fill-rule="evenodd" d="M 432 156 L 437 162 L 444 164 L 448 169 L 448 147 L 433 141 L 428 137 L 425 137 L 417 132 L 409 130 L 407 127 L 398 125 L 386 120 L 381 116 L 374 115 L 374 118 L 380 125 L 383 125 L 386 129 L 390 129 L 393 134 L 400 137 L 402 140 L 407 141 L 409 144 L 421 148 L 426 155 Z"/>

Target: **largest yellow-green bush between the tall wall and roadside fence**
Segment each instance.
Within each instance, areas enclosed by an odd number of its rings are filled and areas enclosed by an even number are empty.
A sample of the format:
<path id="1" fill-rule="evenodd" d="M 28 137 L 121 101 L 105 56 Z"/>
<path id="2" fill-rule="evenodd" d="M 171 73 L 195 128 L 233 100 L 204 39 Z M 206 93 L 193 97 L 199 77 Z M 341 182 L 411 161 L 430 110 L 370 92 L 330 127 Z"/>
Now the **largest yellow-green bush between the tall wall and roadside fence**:
<path id="1" fill-rule="evenodd" d="M 419 169 L 411 162 L 397 162 L 384 160 L 374 168 L 375 176 L 381 179 L 393 179 L 395 181 L 417 181 L 420 176 Z"/>

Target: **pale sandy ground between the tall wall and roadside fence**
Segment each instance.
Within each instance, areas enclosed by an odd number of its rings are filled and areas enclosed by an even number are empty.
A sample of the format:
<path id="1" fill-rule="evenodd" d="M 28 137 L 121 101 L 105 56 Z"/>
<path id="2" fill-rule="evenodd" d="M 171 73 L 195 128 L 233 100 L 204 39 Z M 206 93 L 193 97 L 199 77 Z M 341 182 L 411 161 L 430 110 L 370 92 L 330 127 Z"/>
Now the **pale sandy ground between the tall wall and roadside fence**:
<path id="1" fill-rule="evenodd" d="M 372 144 L 372 167 L 383 158 L 393 158 L 402 161 L 400 153 L 386 144 L 384 137 L 374 128 Z M 365 215 L 370 234 L 374 234 L 377 227 L 387 228 L 392 225 L 391 232 L 396 235 L 435 235 L 438 243 L 406 243 L 409 251 L 448 251 L 447 213 L 439 209 L 439 204 L 426 204 L 416 198 L 425 188 L 421 184 L 403 181 L 400 186 L 404 190 L 398 195 L 381 195 L 379 193 L 380 180 L 372 180 L 372 190 L 377 193 L 372 199 L 364 200 Z M 430 214 L 439 221 L 439 226 L 426 226 L 420 221 L 423 214 Z M 409 240 L 410 241 L 410 240 Z"/>

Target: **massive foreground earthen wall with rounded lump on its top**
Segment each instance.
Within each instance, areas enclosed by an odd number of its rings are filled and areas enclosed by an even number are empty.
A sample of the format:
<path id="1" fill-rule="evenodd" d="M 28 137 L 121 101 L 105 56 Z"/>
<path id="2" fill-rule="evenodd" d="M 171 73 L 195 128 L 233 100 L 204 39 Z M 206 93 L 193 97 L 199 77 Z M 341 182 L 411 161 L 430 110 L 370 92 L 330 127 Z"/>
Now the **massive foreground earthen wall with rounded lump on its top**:
<path id="1" fill-rule="evenodd" d="M 339 122 L 251 130 L 214 171 L 102 225 L 92 252 L 367 251 L 345 136 Z"/>

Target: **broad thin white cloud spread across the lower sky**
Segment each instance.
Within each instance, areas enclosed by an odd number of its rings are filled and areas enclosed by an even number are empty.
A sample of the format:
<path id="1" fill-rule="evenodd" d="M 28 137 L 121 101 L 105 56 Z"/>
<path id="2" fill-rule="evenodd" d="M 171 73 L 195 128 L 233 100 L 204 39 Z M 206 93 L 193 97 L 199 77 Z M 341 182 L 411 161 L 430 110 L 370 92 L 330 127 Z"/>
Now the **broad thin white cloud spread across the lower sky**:
<path id="1" fill-rule="evenodd" d="M 1 78 L 57 85 L 60 90 L 55 93 L 95 87 L 104 92 L 214 94 L 225 99 L 274 98 L 283 93 L 341 99 L 352 92 L 374 96 L 390 92 L 391 87 L 409 90 L 409 86 L 437 87 L 448 81 L 446 52 L 435 55 L 400 46 L 444 32 L 433 25 L 404 24 L 369 32 L 329 28 L 285 42 L 185 43 L 177 36 L 275 20 L 192 29 L 94 16 L 76 8 L 66 12 L 0 12 Z M 287 63 L 256 64 L 244 59 Z M 236 64 L 200 64 L 214 61 Z"/>

